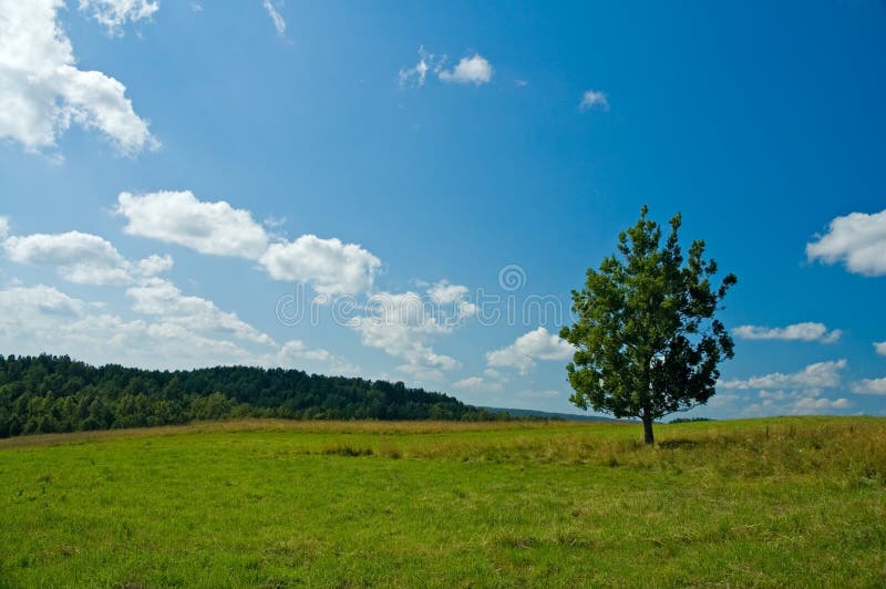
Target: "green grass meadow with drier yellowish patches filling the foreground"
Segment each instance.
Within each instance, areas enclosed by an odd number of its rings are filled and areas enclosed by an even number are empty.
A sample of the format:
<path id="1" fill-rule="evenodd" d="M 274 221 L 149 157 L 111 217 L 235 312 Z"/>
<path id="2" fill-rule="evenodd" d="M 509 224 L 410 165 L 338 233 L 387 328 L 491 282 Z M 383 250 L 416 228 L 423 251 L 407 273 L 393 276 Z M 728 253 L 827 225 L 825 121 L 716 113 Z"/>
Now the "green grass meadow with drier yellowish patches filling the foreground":
<path id="1" fill-rule="evenodd" d="M 0 586 L 886 583 L 886 420 L 0 441 Z"/>

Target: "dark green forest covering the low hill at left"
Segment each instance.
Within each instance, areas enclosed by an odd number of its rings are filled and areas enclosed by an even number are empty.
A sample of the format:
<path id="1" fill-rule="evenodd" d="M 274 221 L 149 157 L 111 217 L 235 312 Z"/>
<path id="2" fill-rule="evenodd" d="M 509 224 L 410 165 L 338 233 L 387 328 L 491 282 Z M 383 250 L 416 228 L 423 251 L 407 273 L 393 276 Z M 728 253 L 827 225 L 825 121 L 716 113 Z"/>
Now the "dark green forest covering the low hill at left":
<path id="1" fill-rule="evenodd" d="M 509 418 L 402 382 L 253 366 L 95 368 L 66 355 L 0 354 L 0 437 L 241 417 Z"/>

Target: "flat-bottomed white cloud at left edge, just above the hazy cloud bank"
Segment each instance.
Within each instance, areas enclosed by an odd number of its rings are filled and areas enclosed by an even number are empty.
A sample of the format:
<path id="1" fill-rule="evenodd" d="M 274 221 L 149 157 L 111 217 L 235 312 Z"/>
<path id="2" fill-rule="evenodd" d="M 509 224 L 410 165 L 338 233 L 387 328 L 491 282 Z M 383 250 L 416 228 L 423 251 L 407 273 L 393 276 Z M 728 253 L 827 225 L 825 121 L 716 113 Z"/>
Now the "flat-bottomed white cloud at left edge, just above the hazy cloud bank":
<path id="1" fill-rule="evenodd" d="M 122 286 L 164 272 L 173 264 L 171 257 L 156 255 L 132 264 L 106 239 L 80 231 L 13 236 L 3 241 L 3 249 L 14 262 L 55 266 L 63 278 L 81 285 Z"/>

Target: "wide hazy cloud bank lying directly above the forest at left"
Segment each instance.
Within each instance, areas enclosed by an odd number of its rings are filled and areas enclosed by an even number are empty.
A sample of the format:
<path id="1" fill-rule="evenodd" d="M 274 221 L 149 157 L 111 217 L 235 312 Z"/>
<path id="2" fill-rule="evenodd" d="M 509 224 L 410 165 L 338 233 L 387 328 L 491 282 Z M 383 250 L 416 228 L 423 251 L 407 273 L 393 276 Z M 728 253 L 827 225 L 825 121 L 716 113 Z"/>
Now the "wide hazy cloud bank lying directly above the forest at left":
<path id="1" fill-rule="evenodd" d="M 0 341 L 16 353 L 70 354 L 94 364 L 109 362 L 154 369 L 244 364 L 357 374 L 342 358 L 302 341 L 277 347 L 235 313 L 199 297 L 183 294 L 166 281 L 127 291 L 133 310 L 124 319 L 54 287 L 0 290 Z"/>

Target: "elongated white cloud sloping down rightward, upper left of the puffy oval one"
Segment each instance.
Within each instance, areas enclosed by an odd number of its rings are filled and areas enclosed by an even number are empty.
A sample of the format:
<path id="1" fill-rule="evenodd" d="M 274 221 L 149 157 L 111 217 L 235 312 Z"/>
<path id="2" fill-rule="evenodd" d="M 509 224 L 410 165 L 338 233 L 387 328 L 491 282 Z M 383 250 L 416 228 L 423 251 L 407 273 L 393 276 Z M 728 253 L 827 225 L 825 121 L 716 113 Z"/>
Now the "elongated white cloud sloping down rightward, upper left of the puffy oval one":
<path id="1" fill-rule="evenodd" d="M 214 256 L 258 259 L 268 247 L 265 229 L 248 210 L 198 200 L 190 190 L 120 193 L 116 213 L 130 235 L 178 244 Z"/>

